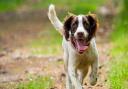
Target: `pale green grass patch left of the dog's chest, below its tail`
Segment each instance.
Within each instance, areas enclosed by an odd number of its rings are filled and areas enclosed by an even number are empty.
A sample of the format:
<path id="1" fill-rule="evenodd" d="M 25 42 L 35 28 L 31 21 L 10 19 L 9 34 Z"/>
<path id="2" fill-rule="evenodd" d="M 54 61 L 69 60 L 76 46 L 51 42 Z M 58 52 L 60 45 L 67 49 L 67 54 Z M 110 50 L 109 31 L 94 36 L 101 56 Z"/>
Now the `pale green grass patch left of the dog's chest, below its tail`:
<path id="1" fill-rule="evenodd" d="M 38 39 L 32 40 L 28 45 L 34 55 L 58 55 L 62 53 L 62 36 L 55 30 L 43 30 Z"/>

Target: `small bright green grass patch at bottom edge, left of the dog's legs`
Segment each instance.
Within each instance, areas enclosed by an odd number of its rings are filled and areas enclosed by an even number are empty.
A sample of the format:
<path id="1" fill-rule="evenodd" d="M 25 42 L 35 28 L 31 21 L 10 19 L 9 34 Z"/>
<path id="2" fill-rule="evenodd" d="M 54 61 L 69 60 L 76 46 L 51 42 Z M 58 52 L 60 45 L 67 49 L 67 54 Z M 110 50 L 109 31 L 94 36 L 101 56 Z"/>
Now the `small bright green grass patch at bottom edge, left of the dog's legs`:
<path id="1" fill-rule="evenodd" d="M 40 76 L 28 82 L 19 83 L 16 89 L 50 89 L 51 87 L 53 87 L 53 80 L 48 76 Z"/>

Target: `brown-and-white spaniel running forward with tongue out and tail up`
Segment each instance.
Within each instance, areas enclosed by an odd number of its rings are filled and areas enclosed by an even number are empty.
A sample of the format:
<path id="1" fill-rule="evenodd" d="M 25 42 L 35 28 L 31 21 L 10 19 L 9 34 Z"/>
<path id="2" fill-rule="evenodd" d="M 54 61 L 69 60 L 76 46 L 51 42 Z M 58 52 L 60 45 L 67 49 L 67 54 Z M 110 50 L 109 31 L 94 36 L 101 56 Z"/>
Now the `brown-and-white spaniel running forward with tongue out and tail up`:
<path id="1" fill-rule="evenodd" d="M 55 11 L 55 6 L 49 6 L 48 18 L 55 29 L 62 35 L 64 64 L 66 71 L 66 89 L 83 89 L 83 81 L 90 72 L 90 84 L 97 82 L 98 50 L 95 35 L 98 20 L 95 14 L 70 14 L 62 23 Z"/>

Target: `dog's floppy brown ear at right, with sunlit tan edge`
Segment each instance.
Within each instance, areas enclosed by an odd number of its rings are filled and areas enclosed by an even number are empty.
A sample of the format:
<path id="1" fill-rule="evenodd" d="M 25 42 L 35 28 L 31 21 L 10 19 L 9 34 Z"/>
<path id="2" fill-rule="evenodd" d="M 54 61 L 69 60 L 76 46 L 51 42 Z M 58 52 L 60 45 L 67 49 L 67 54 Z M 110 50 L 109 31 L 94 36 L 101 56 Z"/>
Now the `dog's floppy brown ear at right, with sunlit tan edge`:
<path id="1" fill-rule="evenodd" d="M 89 39 L 91 39 L 93 36 L 95 36 L 96 30 L 97 30 L 99 25 L 98 25 L 98 20 L 97 20 L 95 14 L 87 15 L 87 19 L 89 22 L 89 29 L 88 29 L 89 33 L 90 33 Z"/>

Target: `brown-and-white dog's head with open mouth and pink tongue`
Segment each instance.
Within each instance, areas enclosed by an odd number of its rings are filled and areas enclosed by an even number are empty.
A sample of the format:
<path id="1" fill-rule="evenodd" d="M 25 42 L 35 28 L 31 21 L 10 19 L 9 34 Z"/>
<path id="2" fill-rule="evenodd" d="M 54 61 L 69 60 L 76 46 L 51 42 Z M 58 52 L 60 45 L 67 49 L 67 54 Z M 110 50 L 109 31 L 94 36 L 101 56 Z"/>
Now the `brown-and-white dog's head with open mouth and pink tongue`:
<path id="1" fill-rule="evenodd" d="M 64 22 L 65 39 L 83 53 L 90 44 L 91 39 L 95 36 L 98 22 L 95 14 L 89 15 L 71 15 Z"/>

